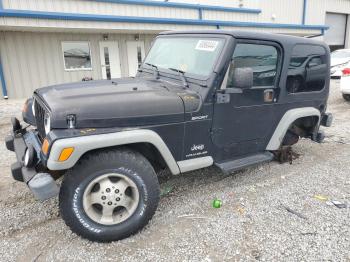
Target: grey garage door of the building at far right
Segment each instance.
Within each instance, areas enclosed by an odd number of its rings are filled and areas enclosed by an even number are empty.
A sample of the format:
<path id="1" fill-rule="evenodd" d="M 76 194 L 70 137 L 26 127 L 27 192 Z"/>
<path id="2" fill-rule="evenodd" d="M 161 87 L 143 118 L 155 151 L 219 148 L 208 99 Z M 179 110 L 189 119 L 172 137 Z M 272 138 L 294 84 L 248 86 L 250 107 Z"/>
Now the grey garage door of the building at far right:
<path id="1" fill-rule="evenodd" d="M 326 14 L 326 30 L 324 40 L 329 45 L 331 51 L 344 48 L 346 33 L 346 15 L 337 13 Z"/>

